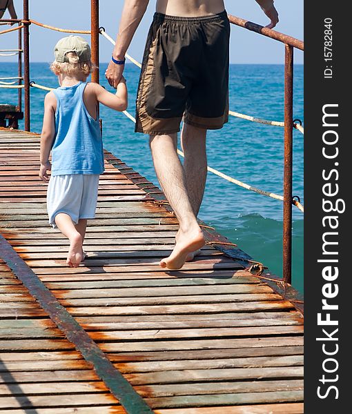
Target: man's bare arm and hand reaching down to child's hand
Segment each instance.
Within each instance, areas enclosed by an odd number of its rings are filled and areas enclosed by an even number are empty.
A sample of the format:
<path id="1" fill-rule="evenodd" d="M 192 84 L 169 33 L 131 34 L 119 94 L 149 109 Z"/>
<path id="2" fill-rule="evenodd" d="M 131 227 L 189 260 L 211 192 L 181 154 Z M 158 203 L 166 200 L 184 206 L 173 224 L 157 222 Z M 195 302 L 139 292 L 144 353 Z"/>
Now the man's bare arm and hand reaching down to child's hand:
<path id="1" fill-rule="evenodd" d="M 113 50 L 114 59 L 119 61 L 124 60 L 128 46 L 130 46 L 135 31 L 146 12 L 148 3 L 149 0 L 125 0 L 116 45 Z M 123 72 L 124 65 L 117 65 L 113 61 L 110 61 L 105 76 L 113 88 L 117 88 Z"/>

